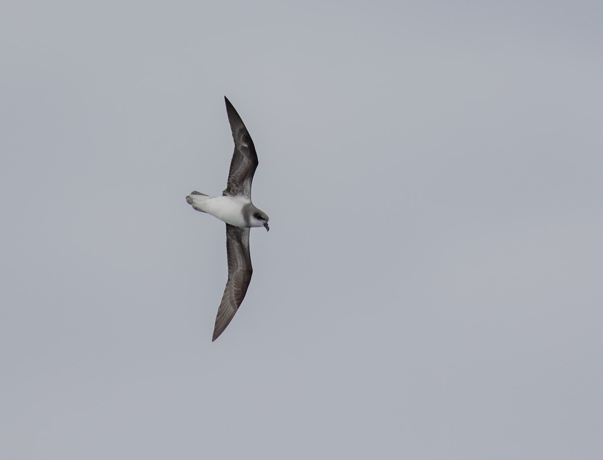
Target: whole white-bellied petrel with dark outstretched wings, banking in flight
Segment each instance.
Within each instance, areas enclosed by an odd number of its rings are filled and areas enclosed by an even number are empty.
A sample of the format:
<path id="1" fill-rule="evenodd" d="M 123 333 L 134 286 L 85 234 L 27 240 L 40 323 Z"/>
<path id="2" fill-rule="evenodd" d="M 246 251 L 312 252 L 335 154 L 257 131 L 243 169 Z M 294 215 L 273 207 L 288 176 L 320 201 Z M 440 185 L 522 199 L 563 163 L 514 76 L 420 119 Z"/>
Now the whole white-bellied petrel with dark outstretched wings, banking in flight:
<path id="1" fill-rule="evenodd" d="M 251 203 L 251 181 L 257 168 L 256 148 L 235 107 L 226 96 L 224 101 L 232 138 L 235 141 L 235 153 L 230 162 L 226 190 L 222 196 L 209 196 L 193 191 L 186 197 L 186 202 L 193 209 L 207 212 L 226 222 L 228 281 L 218 307 L 212 342 L 232 321 L 251 281 L 253 269 L 249 254 L 249 229 L 265 227 L 267 231 L 270 230 L 268 215 Z"/>

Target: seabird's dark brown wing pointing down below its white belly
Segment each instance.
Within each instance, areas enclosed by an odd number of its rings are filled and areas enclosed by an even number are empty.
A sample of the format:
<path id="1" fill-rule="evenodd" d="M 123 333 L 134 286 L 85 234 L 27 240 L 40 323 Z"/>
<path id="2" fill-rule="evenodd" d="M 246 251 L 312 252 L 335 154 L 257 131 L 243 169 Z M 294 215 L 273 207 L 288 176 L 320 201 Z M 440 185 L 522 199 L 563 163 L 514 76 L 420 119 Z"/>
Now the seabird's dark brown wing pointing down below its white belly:
<path id="1" fill-rule="evenodd" d="M 251 255 L 249 254 L 249 228 L 226 224 L 226 255 L 228 259 L 228 281 L 218 308 L 212 342 L 223 333 L 239 305 L 245 298 L 251 281 Z"/>

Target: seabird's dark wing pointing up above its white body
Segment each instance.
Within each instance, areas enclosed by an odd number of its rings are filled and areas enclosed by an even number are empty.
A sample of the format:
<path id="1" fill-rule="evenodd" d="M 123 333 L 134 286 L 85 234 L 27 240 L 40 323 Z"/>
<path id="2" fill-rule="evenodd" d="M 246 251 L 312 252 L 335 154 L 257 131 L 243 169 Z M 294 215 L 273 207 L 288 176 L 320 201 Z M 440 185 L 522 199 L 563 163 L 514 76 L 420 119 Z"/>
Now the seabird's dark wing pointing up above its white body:
<path id="1" fill-rule="evenodd" d="M 226 101 L 226 113 L 228 113 L 232 138 L 235 141 L 235 153 L 230 161 L 228 182 L 223 195 L 243 195 L 251 199 L 251 181 L 257 168 L 256 147 L 253 145 L 243 120 L 236 113 L 235 107 L 226 96 L 224 96 L 224 101 Z"/>

